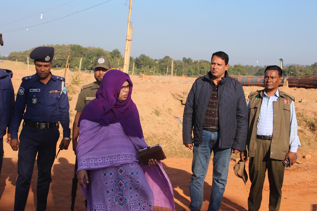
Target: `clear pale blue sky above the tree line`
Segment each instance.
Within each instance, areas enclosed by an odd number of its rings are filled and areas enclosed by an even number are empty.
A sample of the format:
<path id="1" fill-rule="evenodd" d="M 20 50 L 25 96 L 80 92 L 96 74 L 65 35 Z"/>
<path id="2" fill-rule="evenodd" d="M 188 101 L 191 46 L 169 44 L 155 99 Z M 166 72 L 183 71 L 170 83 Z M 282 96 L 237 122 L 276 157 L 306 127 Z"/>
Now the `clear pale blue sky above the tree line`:
<path id="1" fill-rule="evenodd" d="M 1 56 L 46 44 L 117 48 L 124 55 L 129 0 L 3 0 Z M 52 9 L 61 4 L 56 9 Z M 5 24 L 52 9 L 41 15 Z M 229 64 L 311 65 L 317 62 L 317 1 L 133 0 L 131 56 L 210 60 L 224 51 Z M 5 25 L 2 25 L 5 24 Z M 23 30 L 6 32 L 15 29 Z M 67 55 L 65 55 L 67 57 Z M 258 61 L 258 63 L 257 63 Z"/>

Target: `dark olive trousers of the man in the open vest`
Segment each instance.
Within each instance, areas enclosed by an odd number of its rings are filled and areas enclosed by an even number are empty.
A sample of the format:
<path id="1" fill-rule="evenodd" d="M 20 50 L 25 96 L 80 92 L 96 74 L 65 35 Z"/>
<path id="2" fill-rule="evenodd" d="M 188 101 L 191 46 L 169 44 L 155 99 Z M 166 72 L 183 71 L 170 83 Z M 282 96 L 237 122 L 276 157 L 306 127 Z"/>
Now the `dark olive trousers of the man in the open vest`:
<path id="1" fill-rule="evenodd" d="M 260 209 L 266 170 L 268 170 L 270 188 L 268 209 L 269 211 L 277 211 L 280 209 L 284 165 L 282 160 L 270 158 L 270 146 L 270 140 L 256 139 L 256 157 L 251 157 L 249 162 L 249 178 L 251 181 L 248 198 L 249 211 L 257 211 Z"/>

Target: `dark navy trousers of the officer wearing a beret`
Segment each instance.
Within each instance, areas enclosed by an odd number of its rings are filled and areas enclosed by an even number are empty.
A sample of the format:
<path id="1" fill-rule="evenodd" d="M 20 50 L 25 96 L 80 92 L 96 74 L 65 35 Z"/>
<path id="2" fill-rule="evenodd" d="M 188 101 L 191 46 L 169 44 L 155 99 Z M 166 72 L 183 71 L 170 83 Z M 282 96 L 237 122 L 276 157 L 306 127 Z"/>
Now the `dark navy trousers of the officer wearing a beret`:
<path id="1" fill-rule="evenodd" d="M 49 183 L 52 181 L 51 169 L 56 155 L 56 143 L 59 139 L 59 134 L 58 127 L 41 130 L 23 126 L 19 137 L 20 146 L 14 202 L 15 211 L 25 209 L 36 154 L 38 169 L 36 186 L 37 210 L 46 210 Z"/>

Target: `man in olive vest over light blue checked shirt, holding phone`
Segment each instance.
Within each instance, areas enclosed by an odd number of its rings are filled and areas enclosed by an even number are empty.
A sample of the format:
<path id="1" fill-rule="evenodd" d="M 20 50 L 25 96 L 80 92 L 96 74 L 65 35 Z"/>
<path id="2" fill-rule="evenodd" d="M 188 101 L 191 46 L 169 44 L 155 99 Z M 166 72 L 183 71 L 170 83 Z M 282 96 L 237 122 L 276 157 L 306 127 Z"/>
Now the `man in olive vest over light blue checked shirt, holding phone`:
<path id="1" fill-rule="evenodd" d="M 264 71 L 264 90 L 250 93 L 248 102 L 248 157 L 251 187 L 248 210 L 259 210 L 266 170 L 270 187 L 270 211 L 279 210 L 284 178 L 283 160 L 289 159 L 289 166 L 296 162 L 297 148 L 301 146 L 297 136 L 297 120 L 294 96 L 278 89 L 282 82 L 282 69 L 267 66 Z M 240 152 L 247 161 L 246 150 Z"/>

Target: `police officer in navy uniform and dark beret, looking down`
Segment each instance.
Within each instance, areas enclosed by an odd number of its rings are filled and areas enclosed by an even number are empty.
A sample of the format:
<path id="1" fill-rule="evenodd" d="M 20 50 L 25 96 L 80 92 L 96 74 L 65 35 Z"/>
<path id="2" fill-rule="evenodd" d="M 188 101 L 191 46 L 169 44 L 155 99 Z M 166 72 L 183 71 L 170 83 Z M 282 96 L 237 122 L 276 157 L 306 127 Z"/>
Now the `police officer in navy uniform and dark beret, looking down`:
<path id="1" fill-rule="evenodd" d="M 68 149 L 70 142 L 69 102 L 65 78 L 50 72 L 53 47 L 37 47 L 30 53 L 36 74 L 22 78 L 12 118 L 10 146 L 18 152 L 18 178 L 14 210 L 24 210 L 37 154 L 37 211 L 46 210 L 51 169 L 59 139 L 59 123 L 63 139 L 59 147 Z M 26 106 L 26 110 L 24 112 Z M 18 129 L 23 128 L 18 140 Z"/>

